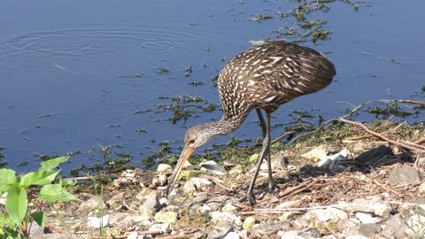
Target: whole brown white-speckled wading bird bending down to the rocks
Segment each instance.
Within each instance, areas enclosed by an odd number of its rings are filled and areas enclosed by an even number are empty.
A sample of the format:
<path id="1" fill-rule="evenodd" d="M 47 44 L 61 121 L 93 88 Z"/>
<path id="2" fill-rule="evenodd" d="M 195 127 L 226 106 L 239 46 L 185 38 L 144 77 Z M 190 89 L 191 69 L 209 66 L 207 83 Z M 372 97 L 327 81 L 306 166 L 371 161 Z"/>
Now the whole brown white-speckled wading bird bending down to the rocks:
<path id="1" fill-rule="evenodd" d="M 243 123 L 251 110 L 259 116 L 264 136 L 259 162 L 247 191 L 254 203 L 253 187 L 263 159 L 267 158 L 268 189 L 274 189 L 270 160 L 270 114 L 281 104 L 324 89 L 336 74 L 335 66 L 322 53 L 284 41 L 267 42 L 232 58 L 220 73 L 218 88 L 223 107 L 220 121 L 190 127 L 184 136 L 184 148 L 174 168 L 166 196 L 197 147 L 217 135 L 228 135 Z M 266 112 L 265 121 L 261 110 Z"/>

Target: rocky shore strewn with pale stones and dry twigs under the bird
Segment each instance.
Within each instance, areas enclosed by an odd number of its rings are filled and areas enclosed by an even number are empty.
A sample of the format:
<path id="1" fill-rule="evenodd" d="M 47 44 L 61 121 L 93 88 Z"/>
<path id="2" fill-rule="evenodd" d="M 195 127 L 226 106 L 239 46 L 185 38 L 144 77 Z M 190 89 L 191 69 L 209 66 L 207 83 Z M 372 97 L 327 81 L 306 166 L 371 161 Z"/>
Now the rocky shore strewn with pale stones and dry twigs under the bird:
<path id="1" fill-rule="evenodd" d="M 425 135 L 421 125 L 400 127 L 383 121 L 368 127 L 388 131 L 385 135 L 403 143 Z M 425 155 L 421 152 L 370 137 L 355 126 L 328 127 L 303 142 L 274 150 L 274 178 L 279 189 L 267 191 L 264 166 L 255 188 L 257 202 L 250 207 L 239 199 L 251 181 L 256 159 L 253 154 L 241 158 L 245 162 L 239 165 L 188 165 L 182 173 L 184 180 L 168 198 L 163 192 L 172 166 L 159 165 L 155 172 L 127 170 L 113 184 L 105 185 L 101 194 L 80 189 L 77 197 L 82 202 L 51 205 L 46 212 L 53 233 L 32 235 L 227 239 L 425 236 Z"/>

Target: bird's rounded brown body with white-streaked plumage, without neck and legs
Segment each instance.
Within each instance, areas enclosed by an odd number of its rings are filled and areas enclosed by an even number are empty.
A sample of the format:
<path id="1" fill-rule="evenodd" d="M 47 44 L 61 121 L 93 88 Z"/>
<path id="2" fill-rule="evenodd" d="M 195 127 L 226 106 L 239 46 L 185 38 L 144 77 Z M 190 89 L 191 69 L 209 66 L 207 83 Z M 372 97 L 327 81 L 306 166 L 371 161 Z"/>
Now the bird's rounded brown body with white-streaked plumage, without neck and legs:
<path id="1" fill-rule="evenodd" d="M 224 119 L 243 120 L 253 108 L 274 112 L 281 104 L 328 86 L 335 66 L 323 54 L 275 41 L 232 58 L 220 73 Z"/>

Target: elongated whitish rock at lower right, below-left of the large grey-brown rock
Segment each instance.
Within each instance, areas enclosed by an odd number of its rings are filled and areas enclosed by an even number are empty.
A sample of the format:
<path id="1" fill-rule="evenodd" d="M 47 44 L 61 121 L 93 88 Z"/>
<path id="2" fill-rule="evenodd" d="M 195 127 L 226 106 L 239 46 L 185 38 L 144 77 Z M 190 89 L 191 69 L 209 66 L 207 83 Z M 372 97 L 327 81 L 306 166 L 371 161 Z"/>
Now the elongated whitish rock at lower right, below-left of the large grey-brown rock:
<path id="1" fill-rule="evenodd" d="M 343 207 L 344 208 L 344 207 Z M 357 198 L 352 201 L 352 206 L 345 207 L 352 212 L 372 212 L 380 217 L 388 217 L 392 210 L 391 204 L 380 200 L 367 200 Z"/>

